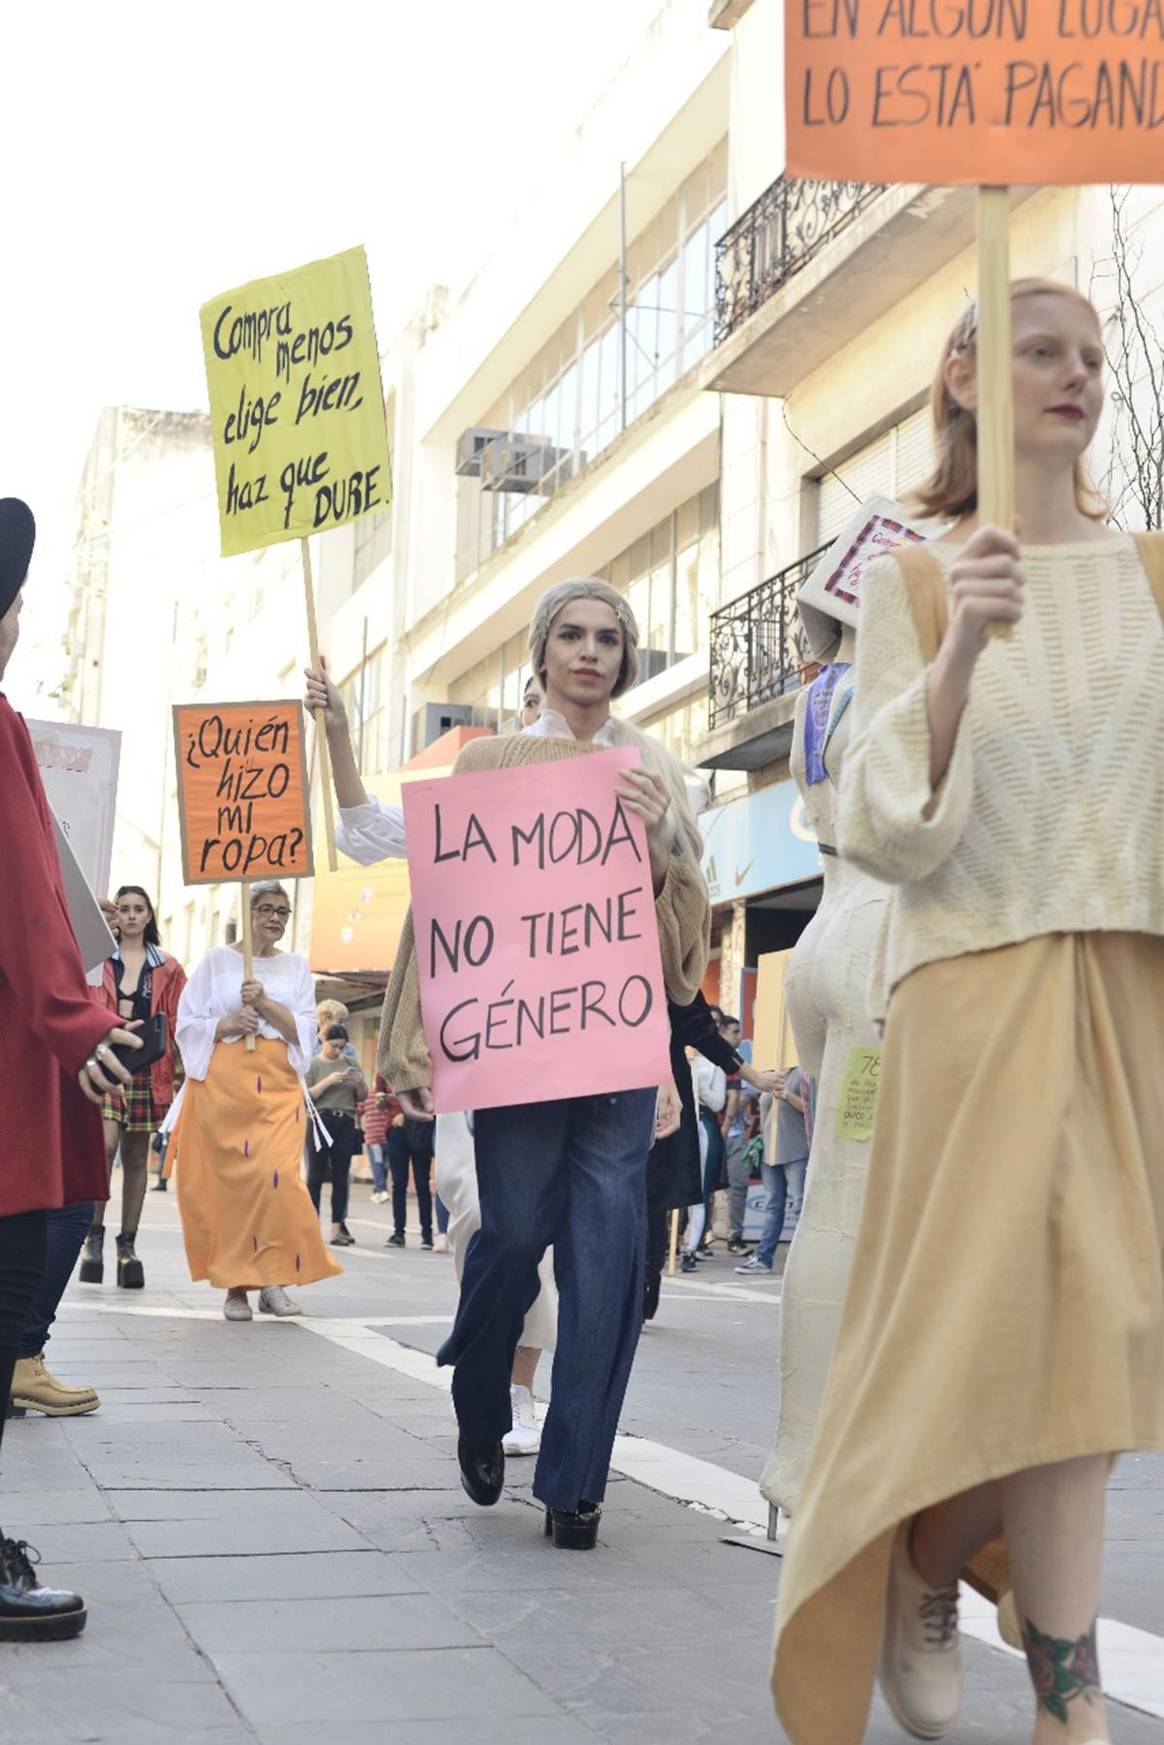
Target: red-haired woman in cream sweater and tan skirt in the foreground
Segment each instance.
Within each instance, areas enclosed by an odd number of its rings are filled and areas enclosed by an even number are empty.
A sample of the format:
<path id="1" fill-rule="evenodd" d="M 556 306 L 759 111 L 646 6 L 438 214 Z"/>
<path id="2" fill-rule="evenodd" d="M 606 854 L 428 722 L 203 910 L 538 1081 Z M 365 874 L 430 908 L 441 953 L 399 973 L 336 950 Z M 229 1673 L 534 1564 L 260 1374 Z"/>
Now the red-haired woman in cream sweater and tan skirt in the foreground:
<path id="1" fill-rule="evenodd" d="M 1084 482 L 1096 311 L 1019 281 L 1012 318 L 1021 543 L 977 518 L 970 311 L 921 492 L 953 527 L 864 576 L 839 852 L 894 888 L 885 1054 L 780 1586 L 794 1745 L 855 1745 L 878 1653 L 909 1733 L 955 1726 L 963 1570 L 1035 1745 L 1105 1742 L 1105 1483 L 1164 1450 L 1164 541 Z"/>

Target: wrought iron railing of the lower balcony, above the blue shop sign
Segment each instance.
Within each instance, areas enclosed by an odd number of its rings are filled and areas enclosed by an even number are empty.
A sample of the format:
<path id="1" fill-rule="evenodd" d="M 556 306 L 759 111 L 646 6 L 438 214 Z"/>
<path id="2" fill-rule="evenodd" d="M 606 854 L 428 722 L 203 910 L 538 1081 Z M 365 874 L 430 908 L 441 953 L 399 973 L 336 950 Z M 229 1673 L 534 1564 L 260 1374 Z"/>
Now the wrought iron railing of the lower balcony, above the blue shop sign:
<path id="1" fill-rule="evenodd" d="M 813 654 L 796 595 L 825 550 L 810 551 L 712 612 L 709 728 L 722 728 L 801 686 Z"/>

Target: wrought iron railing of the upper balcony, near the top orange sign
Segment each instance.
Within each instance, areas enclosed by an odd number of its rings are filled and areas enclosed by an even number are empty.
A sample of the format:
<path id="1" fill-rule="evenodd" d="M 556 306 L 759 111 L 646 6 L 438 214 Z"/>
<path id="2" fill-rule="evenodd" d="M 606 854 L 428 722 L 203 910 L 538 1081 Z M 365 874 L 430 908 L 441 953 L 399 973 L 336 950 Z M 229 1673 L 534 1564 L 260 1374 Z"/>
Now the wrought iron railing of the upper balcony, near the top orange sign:
<path id="1" fill-rule="evenodd" d="M 883 192 L 876 181 L 778 176 L 716 244 L 716 344 Z"/>

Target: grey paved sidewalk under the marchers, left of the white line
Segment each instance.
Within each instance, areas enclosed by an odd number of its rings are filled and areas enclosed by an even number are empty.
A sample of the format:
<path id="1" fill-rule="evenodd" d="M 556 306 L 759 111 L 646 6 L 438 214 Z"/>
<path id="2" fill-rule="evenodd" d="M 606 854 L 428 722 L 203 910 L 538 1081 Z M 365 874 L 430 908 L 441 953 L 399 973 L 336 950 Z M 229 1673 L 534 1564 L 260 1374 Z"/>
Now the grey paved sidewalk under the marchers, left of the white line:
<path id="1" fill-rule="evenodd" d="M 529 1461 L 496 1509 L 466 1501 L 431 1359 L 375 1361 L 408 1321 L 431 1335 L 447 1263 L 366 1251 L 302 1293 L 314 1330 L 236 1326 L 188 1284 L 173 1202 L 150 1222 L 148 1290 L 73 1286 L 52 1340 L 101 1410 L 7 1427 L 0 1520 L 91 1616 L 77 1642 L 0 1649 L 3 1745 L 778 1738 L 777 1558 L 628 1478 L 588 1555 L 544 1541 Z M 976 1642 L 967 1663 L 953 1745 L 1026 1745 L 1023 1666 Z M 1126 1745 L 1157 1729 L 1115 1721 Z M 869 1738 L 900 1735 L 878 1710 Z"/>

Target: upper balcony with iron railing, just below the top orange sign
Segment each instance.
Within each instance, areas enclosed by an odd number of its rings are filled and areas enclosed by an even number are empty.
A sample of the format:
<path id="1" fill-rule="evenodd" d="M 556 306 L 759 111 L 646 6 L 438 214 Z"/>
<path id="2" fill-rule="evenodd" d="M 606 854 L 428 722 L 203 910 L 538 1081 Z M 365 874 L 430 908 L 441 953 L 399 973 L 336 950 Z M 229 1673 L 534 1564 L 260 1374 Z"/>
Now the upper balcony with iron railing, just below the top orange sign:
<path id="1" fill-rule="evenodd" d="M 778 176 L 716 248 L 700 386 L 789 394 L 972 244 L 974 188 Z"/>

